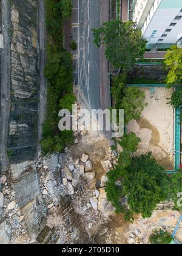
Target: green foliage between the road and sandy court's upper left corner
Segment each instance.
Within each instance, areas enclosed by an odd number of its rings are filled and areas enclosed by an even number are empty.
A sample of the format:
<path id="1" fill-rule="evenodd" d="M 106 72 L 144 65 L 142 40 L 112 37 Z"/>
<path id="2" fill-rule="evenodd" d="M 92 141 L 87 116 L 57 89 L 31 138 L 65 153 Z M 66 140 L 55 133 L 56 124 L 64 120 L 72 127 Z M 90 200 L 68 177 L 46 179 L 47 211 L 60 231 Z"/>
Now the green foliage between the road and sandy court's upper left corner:
<path id="1" fill-rule="evenodd" d="M 124 109 L 124 123 L 138 120 L 146 107 L 145 93 L 136 87 L 126 87 L 126 76 L 120 74 L 113 79 L 112 96 L 116 109 Z"/>

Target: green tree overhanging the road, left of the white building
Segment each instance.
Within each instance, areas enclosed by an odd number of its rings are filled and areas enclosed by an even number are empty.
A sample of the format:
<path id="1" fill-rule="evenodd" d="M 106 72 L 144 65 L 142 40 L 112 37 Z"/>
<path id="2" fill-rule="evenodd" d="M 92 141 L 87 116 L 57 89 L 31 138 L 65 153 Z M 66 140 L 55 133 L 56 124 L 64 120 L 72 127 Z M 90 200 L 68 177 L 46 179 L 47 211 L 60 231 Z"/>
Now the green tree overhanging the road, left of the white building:
<path id="1" fill-rule="evenodd" d="M 134 26 L 132 21 L 111 20 L 93 29 L 94 43 L 106 45 L 106 58 L 115 68 L 132 68 L 137 58 L 143 58 L 147 41 Z"/>

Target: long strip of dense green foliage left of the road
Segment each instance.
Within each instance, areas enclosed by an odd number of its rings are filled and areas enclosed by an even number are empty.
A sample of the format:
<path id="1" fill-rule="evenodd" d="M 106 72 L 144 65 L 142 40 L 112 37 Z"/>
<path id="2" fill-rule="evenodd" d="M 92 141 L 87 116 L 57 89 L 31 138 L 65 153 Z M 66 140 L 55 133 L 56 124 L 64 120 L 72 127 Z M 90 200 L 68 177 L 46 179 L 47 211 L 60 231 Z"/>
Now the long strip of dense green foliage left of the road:
<path id="1" fill-rule="evenodd" d="M 46 0 L 47 27 L 47 109 L 42 134 L 42 153 L 61 152 L 66 145 L 73 143 L 72 132 L 60 132 L 58 113 L 60 108 L 74 104 L 72 94 L 72 55 L 62 47 L 62 20 L 72 13 L 70 0 Z M 65 104 L 65 105 L 64 105 Z M 69 105 L 68 105 L 69 104 Z"/>

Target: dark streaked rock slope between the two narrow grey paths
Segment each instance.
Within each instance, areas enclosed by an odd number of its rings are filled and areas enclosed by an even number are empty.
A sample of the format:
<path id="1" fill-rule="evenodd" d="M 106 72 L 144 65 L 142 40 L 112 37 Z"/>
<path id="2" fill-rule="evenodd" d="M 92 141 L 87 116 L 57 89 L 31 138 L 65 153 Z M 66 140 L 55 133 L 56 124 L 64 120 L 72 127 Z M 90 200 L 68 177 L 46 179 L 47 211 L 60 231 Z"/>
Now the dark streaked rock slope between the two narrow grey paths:
<path id="1" fill-rule="evenodd" d="M 38 124 L 37 2 L 11 1 L 10 163 L 34 160 Z"/>

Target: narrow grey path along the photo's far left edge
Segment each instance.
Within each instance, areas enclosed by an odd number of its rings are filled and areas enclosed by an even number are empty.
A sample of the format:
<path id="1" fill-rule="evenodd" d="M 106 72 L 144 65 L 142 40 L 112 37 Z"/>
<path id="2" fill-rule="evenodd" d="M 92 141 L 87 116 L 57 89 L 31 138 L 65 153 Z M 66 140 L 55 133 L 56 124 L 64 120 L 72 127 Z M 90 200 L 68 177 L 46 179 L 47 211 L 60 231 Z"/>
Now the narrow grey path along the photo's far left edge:
<path id="1" fill-rule="evenodd" d="M 1 51 L 1 110 L 0 110 L 0 167 L 5 171 L 8 166 L 7 135 L 10 115 L 10 13 L 9 1 L 2 0 L 2 34 L 4 49 Z"/>

